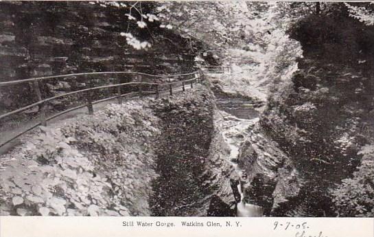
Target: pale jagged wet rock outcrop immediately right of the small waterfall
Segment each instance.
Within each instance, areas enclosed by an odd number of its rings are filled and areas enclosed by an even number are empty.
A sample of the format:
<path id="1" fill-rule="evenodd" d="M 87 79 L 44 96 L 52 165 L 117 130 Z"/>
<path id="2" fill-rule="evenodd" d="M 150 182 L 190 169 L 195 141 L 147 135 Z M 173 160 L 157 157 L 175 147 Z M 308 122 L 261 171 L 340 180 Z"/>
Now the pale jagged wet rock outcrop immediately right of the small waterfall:
<path id="1" fill-rule="evenodd" d="M 259 124 L 242 145 L 238 166 L 248 174 L 244 184 L 246 202 L 264 207 L 266 216 L 276 216 L 279 205 L 298 195 L 303 185 L 288 155 L 264 135 Z"/>

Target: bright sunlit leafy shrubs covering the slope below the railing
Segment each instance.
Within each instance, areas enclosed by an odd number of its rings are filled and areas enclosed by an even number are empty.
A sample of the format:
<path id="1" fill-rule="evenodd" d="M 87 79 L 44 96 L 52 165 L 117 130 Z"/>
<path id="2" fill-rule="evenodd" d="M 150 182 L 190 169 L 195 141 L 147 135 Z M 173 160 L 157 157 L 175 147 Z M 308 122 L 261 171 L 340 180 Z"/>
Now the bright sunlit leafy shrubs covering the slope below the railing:
<path id="1" fill-rule="evenodd" d="M 111 104 L 25 137 L 0 158 L 1 215 L 148 215 L 159 130 L 146 103 Z"/>

